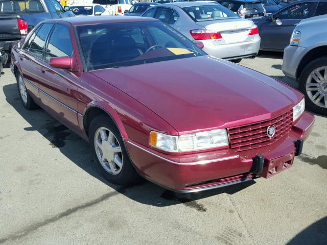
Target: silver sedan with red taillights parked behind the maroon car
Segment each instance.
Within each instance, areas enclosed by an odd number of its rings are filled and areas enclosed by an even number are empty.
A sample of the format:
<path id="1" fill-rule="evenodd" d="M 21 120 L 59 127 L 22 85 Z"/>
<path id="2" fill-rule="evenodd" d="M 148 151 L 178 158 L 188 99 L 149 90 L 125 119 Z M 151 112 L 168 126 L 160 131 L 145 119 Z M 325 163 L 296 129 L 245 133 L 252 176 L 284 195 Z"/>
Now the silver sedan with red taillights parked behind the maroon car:
<path id="1" fill-rule="evenodd" d="M 142 16 L 169 24 L 217 58 L 239 62 L 259 52 L 260 36 L 253 21 L 217 3 L 161 4 L 148 9 Z"/>

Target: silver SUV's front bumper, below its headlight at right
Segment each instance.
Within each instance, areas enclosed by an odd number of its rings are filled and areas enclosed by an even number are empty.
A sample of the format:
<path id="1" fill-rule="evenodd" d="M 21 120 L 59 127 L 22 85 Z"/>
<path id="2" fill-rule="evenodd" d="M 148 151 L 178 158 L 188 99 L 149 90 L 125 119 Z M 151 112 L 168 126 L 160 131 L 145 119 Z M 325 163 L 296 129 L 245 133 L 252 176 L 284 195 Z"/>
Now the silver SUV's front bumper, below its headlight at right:
<path id="1" fill-rule="evenodd" d="M 305 54 L 305 47 L 288 45 L 285 48 L 282 65 L 282 70 L 285 76 L 296 80 L 297 67 Z"/>

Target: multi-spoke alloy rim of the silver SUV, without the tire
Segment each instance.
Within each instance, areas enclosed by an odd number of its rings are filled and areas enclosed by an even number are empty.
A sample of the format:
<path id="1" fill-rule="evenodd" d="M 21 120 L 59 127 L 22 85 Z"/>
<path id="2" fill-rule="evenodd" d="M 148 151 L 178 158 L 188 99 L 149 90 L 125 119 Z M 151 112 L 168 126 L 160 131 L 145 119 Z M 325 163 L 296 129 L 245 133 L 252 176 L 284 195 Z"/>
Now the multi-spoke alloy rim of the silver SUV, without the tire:
<path id="1" fill-rule="evenodd" d="M 306 82 L 309 99 L 317 106 L 327 108 L 327 66 L 314 69 Z"/>

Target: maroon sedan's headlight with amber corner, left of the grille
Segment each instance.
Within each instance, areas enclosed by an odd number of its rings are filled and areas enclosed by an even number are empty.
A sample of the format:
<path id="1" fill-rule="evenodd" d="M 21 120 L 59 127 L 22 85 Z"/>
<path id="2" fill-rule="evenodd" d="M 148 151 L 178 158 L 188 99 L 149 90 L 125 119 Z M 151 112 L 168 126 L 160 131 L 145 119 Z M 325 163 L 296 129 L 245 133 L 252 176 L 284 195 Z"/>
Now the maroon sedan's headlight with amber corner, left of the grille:
<path id="1" fill-rule="evenodd" d="M 168 152 L 189 152 L 228 145 L 226 129 L 171 136 L 155 131 L 150 133 L 150 145 Z"/>

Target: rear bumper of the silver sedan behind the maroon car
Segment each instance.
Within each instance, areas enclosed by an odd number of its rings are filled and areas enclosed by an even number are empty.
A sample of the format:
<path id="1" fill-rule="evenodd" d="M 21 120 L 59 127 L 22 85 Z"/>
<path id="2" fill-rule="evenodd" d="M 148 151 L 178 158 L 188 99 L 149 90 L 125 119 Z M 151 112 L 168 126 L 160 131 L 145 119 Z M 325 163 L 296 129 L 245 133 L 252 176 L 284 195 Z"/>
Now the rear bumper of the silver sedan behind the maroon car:
<path id="1" fill-rule="evenodd" d="M 201 40 L 202 41 L 202 40 Z M 260 36 L 255 35 L 253 40 L 240 43 L 215 45 L 212 40 L 203 40 L 203 51 L 216 58 L 236 60 L 254 57 L 260 48 Z"/>

